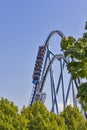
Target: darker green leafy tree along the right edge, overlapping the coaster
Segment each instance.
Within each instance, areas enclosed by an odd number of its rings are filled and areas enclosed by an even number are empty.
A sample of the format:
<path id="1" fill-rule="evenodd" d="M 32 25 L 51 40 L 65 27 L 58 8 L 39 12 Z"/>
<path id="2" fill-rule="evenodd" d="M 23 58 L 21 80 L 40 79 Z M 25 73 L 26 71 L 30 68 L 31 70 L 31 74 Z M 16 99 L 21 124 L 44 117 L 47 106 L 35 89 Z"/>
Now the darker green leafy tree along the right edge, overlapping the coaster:
<path id="1" fill-rule="evenodd" d="M 87 29 L 87 22 L 85 29 Z M 87 33 L 77 40 L 69 36 L 61 41 L 61 50 L 65 57 L 69 56 L 71 61 L 67 64 L 67 69 L 71 73 L 73 79 L 87 79 Z M 87 110 L 87 82 L 82 83 L 78 87 L 78 95 L 80 103 L 84 110 Z"/>

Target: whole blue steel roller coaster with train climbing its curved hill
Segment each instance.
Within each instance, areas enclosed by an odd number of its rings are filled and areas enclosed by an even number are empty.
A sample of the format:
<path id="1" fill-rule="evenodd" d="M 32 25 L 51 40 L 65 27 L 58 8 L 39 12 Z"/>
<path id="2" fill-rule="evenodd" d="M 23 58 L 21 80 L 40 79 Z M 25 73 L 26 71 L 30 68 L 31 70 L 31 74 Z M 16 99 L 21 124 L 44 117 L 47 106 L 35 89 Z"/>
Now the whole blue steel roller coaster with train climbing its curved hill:
<path id="1" fill-rule="evenodd" d="M 65 58 L 63 53 L 55 54 L 50 50 L 50 40 L 55 34 L 61 39 L 65 37 L 61 31 L 52 31 L 45 43 L 38 49 L 32 76 L 33 90 L 30 105 L 35 101 L 45 103 L 48 97 L 50 103 L 48 99 L 47 105 L 56 114 L 59 114 L 68 104 L 80 107 L 82 110 L 76 98 L 81 80 L 79 78 L 73 80 L 72 75 L 68 73 L 66 68 L 66 65 L 71 60 L 70 57 Z M 45 92 L 46 88 L 48 89 L 47 92 Z"/>

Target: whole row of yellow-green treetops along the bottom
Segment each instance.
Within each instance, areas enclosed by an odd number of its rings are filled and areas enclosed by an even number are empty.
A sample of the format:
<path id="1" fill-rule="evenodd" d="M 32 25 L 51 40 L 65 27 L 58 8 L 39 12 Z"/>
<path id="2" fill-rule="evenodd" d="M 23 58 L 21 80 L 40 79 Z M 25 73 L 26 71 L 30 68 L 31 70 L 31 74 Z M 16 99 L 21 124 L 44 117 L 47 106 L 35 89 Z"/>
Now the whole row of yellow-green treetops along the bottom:
<path id="1" fill-rule="evenodd" d="M 19 113 L 13 102 L 1 98 L 0 130 L 87 130 L 87 122 L 79 110 L 71 106 L 59 116 L 35 102 Z"/>

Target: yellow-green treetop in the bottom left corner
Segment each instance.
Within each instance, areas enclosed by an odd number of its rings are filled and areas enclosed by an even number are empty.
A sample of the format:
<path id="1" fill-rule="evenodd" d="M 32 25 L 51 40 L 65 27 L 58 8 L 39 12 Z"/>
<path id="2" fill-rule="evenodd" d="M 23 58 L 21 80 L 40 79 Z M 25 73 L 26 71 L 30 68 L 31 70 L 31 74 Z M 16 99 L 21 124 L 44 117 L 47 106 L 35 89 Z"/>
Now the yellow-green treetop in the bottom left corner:
<path id="1" fill-rule="evenodd" d="M 27 120 L 20 115 L 13 102 L 0 100 L 0 130 L 27 130 Z"/>

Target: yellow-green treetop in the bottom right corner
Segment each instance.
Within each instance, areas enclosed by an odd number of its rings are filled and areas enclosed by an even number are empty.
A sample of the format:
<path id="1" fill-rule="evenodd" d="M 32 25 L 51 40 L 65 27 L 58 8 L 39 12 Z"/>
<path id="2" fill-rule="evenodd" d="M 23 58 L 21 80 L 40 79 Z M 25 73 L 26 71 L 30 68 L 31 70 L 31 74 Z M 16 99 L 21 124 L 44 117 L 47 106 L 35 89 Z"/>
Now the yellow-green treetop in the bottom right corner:
<path id="1" fill-rule="evenodd" d="M 68 130 L 87 130 L 87 121 L 78 108 L 67 106 L 60 116 L 64 118 Z"/>

